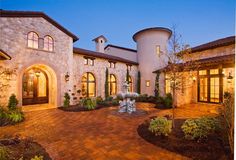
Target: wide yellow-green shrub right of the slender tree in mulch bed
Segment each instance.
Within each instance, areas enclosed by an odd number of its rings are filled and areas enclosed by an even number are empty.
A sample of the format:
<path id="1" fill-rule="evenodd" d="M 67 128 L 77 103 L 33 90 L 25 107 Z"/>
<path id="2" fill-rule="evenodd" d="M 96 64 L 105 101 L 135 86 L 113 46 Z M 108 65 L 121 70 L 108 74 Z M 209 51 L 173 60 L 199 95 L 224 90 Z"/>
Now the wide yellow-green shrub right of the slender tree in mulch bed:
<path id="1" fill-rule="evenodd" d="M 181 126 L 186 139 L 207 138 L 209 134 L 220 128 L 219 121 L 212 117 L 201 117 L 198 119 L 188 119 Z"/>

